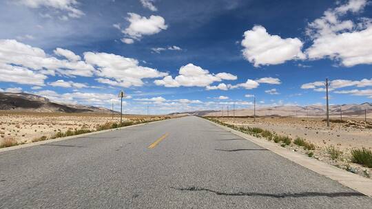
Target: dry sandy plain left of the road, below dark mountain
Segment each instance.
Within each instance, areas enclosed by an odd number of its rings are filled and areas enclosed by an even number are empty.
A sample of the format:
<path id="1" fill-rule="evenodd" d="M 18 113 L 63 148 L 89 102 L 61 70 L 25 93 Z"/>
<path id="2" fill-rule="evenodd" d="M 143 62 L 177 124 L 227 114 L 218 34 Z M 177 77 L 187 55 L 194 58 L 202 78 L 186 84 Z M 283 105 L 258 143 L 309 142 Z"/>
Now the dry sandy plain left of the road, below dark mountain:
<path id="1" fill-rule="evenodd" d="M 123 121 L 157 120 L 165 115 L 123 115 Z M 59 131 L 89 129 L 106 122 L 120 122 L 120 115 L 93 113 L 29 113 L 0 111 L 0 144 L 6 139 L 31 142 L 33 139 L 50 137 Z"/>

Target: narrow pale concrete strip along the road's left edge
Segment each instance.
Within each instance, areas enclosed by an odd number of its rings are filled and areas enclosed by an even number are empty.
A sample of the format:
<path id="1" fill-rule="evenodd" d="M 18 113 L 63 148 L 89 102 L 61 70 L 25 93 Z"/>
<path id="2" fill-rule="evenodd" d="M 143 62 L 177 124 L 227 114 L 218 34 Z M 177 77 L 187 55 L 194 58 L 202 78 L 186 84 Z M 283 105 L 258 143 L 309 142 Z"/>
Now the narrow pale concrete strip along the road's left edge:
<path id="1" fill-rule="evenodd" d="M 169 120 L 169 119 L 165 119 L 165 120 Z M 16 146 L 9 146 L 9 147 L 6 147 L 6 148 L 0 148 L 0 153 L 7 152 L 7 151 L 13 151 L 13 150 L 16 150 L 16 149 L 19 149 L 19 148 L 27 148 L 27 147 L 37 146 L 37 145 L 41 145 L 41 144 L 49 144 L 49 143 L 52 143 L 52 142 L 60 142 L 60 141 L 64 141 L 64 140 L 71 140 L 71 139 L 74 139 L 74 138 L 85 137 L 85 136 L 88 136 L 88 135 L 94 135 L 94 134 L 99 134 L 99 133 L 106 133 L 106 132 L 110 132 L 110 131 L 127 129 L 127 128 L 131 128 L 131 127 L 134 127 L 134 126 L 142 126 L 142 125 L 145 125 L 145 124 L 162 122 L 162 121 L 164 121 L 164 120 L 158 120 L 158 121 L 154 121 L 154 122 L 134 124 L 134 125 L 131 125 L 131 126 L 124 126 L 124 127 L 116 128 L 116 129 L 107 129 L 107 130 L 103 130 L 103 131 L 94 131 L 94 132 L 91 132 L 91 133 L 83 133 L 83 134 L 79 134 L 79 135 L 71 135 L 71 136 L 68 136 L 68 137 L 59 137 L 59 138 L 55 138 L 55 139 L 52 139 L 52 140 L 44 140 L 44 141 L 40 141 L 40 142 L 30 142 L 30 143 L 27 143 L 27 144 L 21 144 L 21 145 L 16 145 Z"/>

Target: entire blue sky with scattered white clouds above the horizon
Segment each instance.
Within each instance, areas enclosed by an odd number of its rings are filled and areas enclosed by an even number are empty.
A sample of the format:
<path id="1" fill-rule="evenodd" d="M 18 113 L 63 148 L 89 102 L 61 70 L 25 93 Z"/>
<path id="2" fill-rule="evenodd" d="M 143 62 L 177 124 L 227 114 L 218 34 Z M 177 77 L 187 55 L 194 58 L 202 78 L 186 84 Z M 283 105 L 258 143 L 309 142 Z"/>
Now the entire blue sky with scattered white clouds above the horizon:
<path id="1" fill-rule="evenodd" d="M 0 91 L 150 113 L 372 99 L 372 3 L 2 0 Z"/>

